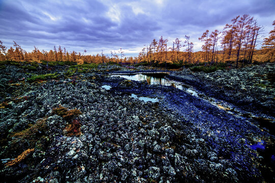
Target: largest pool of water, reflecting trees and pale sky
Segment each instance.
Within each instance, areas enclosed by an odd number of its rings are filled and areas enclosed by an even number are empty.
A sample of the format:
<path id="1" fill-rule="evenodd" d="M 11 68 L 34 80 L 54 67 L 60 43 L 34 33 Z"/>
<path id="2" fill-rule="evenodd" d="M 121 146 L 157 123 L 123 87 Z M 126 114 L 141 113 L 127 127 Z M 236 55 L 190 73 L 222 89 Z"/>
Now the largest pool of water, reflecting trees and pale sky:
<path id="1" fill-rule="evenodd" d="M 164 85 L 164 86 L 173 86 L 175 88 L 181 89 L 184 92 L 190 93 L 191 95 L 197 96 L 198 93 L 195 92 L 194 90 L 191 90 L 190 88 L 184 87 L 182 84 L 179 82 L 173 81 L 173 80 L 168 80 L 164 78 L 164 76 L 167 76 L 168 74 L 165 73 L 148 73 L 148 74 L 116 74 L 116 75 L 111 75 L 111 76 L 118 76 L 122 77 L 125 79 L 129 80 L 134 80 L 134 81 L 147 81 L 148 84 L 159 84 L 159 85 Z"/>

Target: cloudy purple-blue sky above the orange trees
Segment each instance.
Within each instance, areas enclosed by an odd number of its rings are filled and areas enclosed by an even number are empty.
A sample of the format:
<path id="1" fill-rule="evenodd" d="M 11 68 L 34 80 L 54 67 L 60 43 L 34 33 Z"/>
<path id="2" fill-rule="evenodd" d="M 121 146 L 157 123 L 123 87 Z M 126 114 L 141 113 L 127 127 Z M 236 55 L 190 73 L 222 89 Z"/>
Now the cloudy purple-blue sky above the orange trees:
<path id="1" fill-rule="evenodd" d="M 226 23 L 243 14 L 254 16 L 268 36 L 275 20 L 274 0 L 0 0 L 0 40 L 13 41 L 26 51 L 34 46 L 49 51 L 59 45 L 69 52 L 101 53 L 122 48 L 137 56 L 144 45 L 160 36 L 171 46 L 176 38 L 190 36 L 194 51 L 209 29 L 223 31 Z M 262 38 L 260 38 L 262 39 Z M 260 47 L 260 44 L 258 45 Z"/>

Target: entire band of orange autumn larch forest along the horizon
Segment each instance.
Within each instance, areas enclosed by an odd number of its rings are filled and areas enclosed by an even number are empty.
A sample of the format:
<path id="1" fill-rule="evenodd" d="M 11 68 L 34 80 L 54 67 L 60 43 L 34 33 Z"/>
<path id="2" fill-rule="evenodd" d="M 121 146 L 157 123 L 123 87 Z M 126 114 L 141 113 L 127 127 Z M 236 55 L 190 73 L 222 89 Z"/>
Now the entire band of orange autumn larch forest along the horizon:
<path id="1" fill-rule="evenodd" d="M 206 30 L 200 38 L 203 42 L 202 51 L 194 52 L 194 43 L 185 35 L 184 40 L 176 38 L 173 46 L 168 47 L 168 40 L 162 36 L 157 41 L 154 39 L 150 44 L 144 45 L 136 57 L 125 57 L 122 49 L 111 51 L 111 56 L 103 54 L 89 55 L 70 51 L 59 46 L 53 50 L 40 51 L 36 46 L 32 52 L 27 52 L 15 41 L 14 47 L 9 49 L 0 41 L 0 61 L 13 60 L 16 62 L 75 62 L 77 64 L 90 63 L 128 63 L 137 64 L 217 64 L 234 63 L 236 67 L 240 63 L 252 64 L 253 62 L 274 62 L 275 60 L 275 20 L 274 28 L 269 37 L 264 38 L 261 49 L 256 49 L 263 26 L 248 14 L 237 16 L 224 26 L 222 31 Z"/>

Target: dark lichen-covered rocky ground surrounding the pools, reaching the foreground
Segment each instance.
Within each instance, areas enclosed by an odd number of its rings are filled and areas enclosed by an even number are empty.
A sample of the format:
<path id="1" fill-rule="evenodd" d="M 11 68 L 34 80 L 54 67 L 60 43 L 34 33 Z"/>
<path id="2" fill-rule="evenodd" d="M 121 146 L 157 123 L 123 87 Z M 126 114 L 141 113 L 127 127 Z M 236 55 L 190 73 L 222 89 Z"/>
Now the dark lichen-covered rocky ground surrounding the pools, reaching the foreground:
<path id="1" fill-rule="evenodd" d="M 172 86 L 106 75 L 148 68 L 100 65 L 71 75 L 66 66 L 50 69 L 6 66 L 0 71 L 3 182 L 275 180 L 274 136 L 250 116 L 232 115 Z M 265 79 L 273 71 L 271 64 L 245 68 L 241 74 L 182 70 L 168 77 L 233 104 L 246 96 L 253 104 L 244 101 L 243 107 L 269 107 L 266 115 L 272 119 L 274 87 Z M 28 82 L 34 74 L 48 72 L 56 75 Z M 104 84 L 112 88 L 104 89 Z M 131 94 L 157 97 L 159 102 L 143 102 Z"/>

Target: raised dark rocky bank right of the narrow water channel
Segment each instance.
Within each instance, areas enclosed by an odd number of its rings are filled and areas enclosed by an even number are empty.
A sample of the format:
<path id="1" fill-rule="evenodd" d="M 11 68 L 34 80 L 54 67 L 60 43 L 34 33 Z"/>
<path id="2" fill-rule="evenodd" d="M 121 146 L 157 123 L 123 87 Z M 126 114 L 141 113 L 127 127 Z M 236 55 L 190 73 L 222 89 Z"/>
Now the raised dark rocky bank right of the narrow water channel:
<path id="1" fill-rule="evenodd" d="M 274 63 L 268 63 L 213 73 L 183 70 L 168 78 L 194 86 L 209 97 L 243 106 L 244 110 L 275 116 L 274 71 Z"/>

